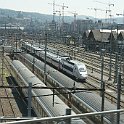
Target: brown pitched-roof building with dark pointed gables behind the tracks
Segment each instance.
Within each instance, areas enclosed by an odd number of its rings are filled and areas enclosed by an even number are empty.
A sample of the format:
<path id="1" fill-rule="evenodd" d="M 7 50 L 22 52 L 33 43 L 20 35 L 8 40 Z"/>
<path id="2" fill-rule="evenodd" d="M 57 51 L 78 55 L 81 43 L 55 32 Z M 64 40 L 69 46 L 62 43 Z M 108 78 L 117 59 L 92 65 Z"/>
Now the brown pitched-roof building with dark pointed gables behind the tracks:
<path id="1" fill-rule="evenodd" d="M 82 37 L 86 47 L 91 51 L 106 49 L 114 52 L 117 47 L 117 33 L 111 30 L 91 30 Z"/>

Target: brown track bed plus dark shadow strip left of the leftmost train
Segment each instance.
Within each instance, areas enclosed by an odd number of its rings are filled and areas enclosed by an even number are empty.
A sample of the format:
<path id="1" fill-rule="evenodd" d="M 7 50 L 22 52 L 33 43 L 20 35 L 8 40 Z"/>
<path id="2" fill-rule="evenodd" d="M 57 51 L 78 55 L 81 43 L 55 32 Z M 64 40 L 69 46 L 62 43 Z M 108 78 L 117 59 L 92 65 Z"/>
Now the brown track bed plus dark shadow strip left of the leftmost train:
<path id="1" fill-rule="evenodd" d="M 8 55 L 6 53 L 4 53 L 4 57 L 0 55 L 0 68 L 3 71 L 0 75 L 0 122 L 4 123 L 10 122 L 14 118 L 27 117 L 27 102 L 16 87 L 10 70 L 12 60 Z M 32 111 L 32 116 L 34 115 Z"/>

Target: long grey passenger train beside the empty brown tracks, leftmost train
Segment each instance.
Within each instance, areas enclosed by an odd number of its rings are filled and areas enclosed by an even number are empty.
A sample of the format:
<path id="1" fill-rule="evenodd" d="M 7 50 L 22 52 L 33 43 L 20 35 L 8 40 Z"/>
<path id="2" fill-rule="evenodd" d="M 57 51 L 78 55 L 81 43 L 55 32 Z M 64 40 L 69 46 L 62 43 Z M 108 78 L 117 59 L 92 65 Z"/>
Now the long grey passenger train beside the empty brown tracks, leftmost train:
<path id="1" fill-rule="evenodd" d="M 19 86 L 32 86 L 47 87 L 39 78 L 37 78 L 25 65 L 18 60 L 13 60 L 11 63 L 11 70 L 14 78 Z M 24 95 L 28 96 L 28 90 L 22 89 Z M 32 107 L 39 117 L 54 117 L 54 116 L 66 116 L 65 111 L 69 107 L 56 95 L 54 95 L 53 104 L 53 92 L 50 89 L 32 89 Z M 47 95 L 47 96 L 44 96 Z M 71 110 L 72 115 L 76 113 Z M 47 124 L 65 124 L 64 120 L 59 122 L 50 122 Z M 80 118 L 72 118 L 70 124 L 86 124 Z"/>

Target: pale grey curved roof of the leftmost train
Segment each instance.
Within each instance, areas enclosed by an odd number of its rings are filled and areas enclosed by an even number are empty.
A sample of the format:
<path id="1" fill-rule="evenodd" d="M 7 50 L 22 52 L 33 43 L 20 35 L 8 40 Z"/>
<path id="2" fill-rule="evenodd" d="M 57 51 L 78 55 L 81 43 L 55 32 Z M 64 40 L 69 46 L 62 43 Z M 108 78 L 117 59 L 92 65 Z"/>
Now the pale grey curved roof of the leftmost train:
<path id="1" fill-rule="evenodd" d="M 18 73 L 22 75 L 22 77 L 26 80 L 26 82 L 32 83 L 32 85 L 41 85 L 46 87 L 46 85 L 37 78 L 30 70 L 27 69 L 20 61 L 14 60 L 12 65 L 18 70 Z M 27 84 L 28 85 L 28 84 Z M 33 90 L 36 95 L 41 95 L 39 99 L 41 99 L 42 104 L 46 107 L 47 112 L 51 116 L 63 116 L 66 114 L 66 109 L 69 108 L 58 96 L 55 95 L 54 106 L 53 106 L 53 96 L 49 94 L 53 94 L 50 89 L 37 89 Z M 48 95 L 48 96 L 43 96 Z M 75 114 L 72 111 L 72 114 Z"/>

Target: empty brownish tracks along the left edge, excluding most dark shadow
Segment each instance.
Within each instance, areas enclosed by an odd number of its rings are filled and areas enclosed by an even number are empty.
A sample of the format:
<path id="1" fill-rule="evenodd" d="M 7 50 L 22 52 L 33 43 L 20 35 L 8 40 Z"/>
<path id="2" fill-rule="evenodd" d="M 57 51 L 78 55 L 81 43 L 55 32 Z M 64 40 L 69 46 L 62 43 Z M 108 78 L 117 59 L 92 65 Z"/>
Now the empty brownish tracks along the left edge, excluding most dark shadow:
<path id="1" fill-rule="evenodd" d="M 3 64 L 1 64 L 3 67 L 0 67 L 3 68 L 3 74 L 0 76 L 0 116 L 10 118 L 22 117 L 22 113 L 20 112 L 16 103 L 18 100 L 17 98 L 16 100 L 14 98 L 15 95 L 18 96 L 17 90 L 4 87 L 14 85 L 13 78 L 9 70 L 8 58 L 8 56 L 4 55 L 3 61 L 0 61 L 0 63 L 3 62 Z M 11 119 L 7 121 L 11 121 Z M 4 120 L 4 122 L 6 121 Z"/>

